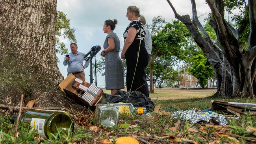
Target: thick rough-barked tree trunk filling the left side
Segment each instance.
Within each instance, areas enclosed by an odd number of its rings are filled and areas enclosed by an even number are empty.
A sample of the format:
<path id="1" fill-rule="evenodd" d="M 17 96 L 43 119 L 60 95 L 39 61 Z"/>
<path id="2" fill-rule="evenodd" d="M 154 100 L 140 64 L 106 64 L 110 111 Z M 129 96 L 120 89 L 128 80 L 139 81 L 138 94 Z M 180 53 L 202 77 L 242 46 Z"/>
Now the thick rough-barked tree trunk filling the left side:
<path id="1" fill-rule="evenodd" d="M 0 99 L 17 106 L 68 107 L 58 84 L 55 56 L 57 0 L 2 0 L 0 3 Z"/>

